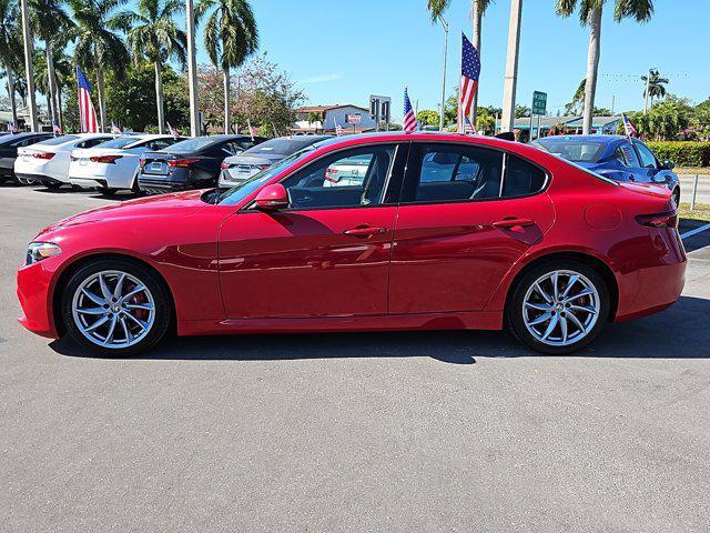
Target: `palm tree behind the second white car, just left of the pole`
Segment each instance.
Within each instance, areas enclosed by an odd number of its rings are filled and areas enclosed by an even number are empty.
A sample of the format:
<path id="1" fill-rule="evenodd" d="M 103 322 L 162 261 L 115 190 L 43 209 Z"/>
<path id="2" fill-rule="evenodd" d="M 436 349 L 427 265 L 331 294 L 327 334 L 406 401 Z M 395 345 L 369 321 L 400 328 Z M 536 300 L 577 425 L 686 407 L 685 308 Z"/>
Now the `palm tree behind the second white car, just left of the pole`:
<path id="1" fill-rule="evenodd" d="M 133 61 L 148 59 L 155 67 L 155 103 L 158 105 L 158 132 L 163 132 L 162 64 L 176 58 L 185 64 L 187 37 L 178 28 L 173 16 L 183 9 L 181 0 L 139 0 L 138 11 L 130 17 L 132 28 L 128 32 L 128 44 Z"/>

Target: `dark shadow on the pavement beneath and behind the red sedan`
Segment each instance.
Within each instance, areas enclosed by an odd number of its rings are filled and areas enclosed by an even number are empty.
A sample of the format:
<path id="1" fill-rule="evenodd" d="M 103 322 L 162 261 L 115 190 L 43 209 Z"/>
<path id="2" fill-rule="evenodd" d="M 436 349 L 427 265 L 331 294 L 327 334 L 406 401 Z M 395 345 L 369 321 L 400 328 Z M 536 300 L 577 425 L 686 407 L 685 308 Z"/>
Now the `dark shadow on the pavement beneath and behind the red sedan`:
<path id="1" fill-rule="evenodd" d="M 632 322 L 609 324 L 581 358 L 710 358 L 710 300 L 681 296 L 670 309 Z M 93 356 L 69 339 L 50 348 L 68 356 Z M 476 358 L 544 356 L 496 331 L 416 331 L 190 336 L 171 339 L 135 359 L 280 361 L 351 358 L 432 358 L 473 364 Z"/>

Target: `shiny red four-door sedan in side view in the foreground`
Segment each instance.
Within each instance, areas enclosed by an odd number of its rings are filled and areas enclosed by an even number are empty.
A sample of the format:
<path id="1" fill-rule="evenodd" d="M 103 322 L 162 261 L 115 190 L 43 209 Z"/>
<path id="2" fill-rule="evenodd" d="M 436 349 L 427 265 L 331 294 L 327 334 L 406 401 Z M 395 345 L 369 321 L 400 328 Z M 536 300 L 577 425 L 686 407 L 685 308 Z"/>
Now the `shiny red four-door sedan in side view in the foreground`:
<path id="1" fill-rule="evenodd" d="M 316 144 L 233 189 L 124 202 L 30 243 L 20 322 L 109 355 L 179 335 L 507 326 L 568 353 L 672 304 L 670 192 L 489 138 Z"/>

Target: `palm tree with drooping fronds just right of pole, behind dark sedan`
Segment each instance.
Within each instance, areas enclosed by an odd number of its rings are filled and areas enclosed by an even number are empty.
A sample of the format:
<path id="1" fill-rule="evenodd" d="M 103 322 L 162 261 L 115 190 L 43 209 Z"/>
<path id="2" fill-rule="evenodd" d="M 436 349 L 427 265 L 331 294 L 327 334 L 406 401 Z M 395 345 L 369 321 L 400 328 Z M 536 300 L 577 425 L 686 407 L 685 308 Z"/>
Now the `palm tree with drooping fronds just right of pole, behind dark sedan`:
<path id="1" fill-rule="evenodd" d="M 210 13 L 207 16 L 207 13 Z M 204 46 L 224 76 L 224 132 L 230 132 L 230 69 L 241 67 L 258 48 L 258 31 L 248 0 L 200 0 L 195 19 L 207 17 Z"/>

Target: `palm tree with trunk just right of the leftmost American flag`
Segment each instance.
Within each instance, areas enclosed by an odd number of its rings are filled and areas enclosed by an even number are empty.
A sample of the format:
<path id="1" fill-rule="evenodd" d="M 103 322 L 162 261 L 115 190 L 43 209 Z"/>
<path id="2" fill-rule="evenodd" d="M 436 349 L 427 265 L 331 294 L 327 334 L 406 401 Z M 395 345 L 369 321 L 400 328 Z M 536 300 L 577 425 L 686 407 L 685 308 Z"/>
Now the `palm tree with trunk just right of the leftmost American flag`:
<path id="1" fill-rule="evenodd" d="M 74 59 L 97 74 L 101 131 L 106 123 L 104 73 L 111 69 L 123 77 L 129 52 L 120 31 L 129 30 L 131 12 L 116 12 L 125 0 L 68 0 L 77 22 Z"/>

